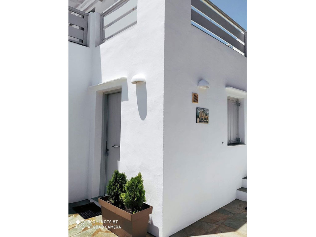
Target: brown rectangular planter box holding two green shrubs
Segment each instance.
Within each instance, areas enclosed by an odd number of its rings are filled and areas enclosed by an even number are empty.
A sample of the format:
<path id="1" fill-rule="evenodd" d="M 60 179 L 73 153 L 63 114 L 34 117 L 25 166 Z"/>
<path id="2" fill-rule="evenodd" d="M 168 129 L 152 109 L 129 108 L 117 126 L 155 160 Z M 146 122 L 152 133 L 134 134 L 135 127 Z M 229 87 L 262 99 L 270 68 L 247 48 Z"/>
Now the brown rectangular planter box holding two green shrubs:
<path id="1" fill-rule="evenodd" d="M 146 237 L 149 214 L 153 207 L 144 203 L 145 209 L 134 214 L 128 213 L 108 202 L 108 196 L 99 197 L 101 205 L 102 220 L 112 221 L 103 223 L 103 226 L 119 237 Z M 113 224 L 113 221 L 118 221 Z M 109 228 L 108 226 L 120 226 L 121 228 Z"/>

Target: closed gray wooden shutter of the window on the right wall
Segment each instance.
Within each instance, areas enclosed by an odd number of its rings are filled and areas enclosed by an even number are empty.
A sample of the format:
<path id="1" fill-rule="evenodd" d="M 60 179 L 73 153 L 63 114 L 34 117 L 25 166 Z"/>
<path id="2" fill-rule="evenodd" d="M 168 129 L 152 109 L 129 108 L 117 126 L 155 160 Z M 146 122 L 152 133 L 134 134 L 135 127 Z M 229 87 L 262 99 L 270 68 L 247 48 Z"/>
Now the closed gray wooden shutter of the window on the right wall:
<path id="1" fill-rule="evenodd" d="M 227 98 L 227 135 L 228 144 L 240 143 L 239 129 L 238 129 L 238 115 L 240 103 L 238 99 L 233 97 Z"/>

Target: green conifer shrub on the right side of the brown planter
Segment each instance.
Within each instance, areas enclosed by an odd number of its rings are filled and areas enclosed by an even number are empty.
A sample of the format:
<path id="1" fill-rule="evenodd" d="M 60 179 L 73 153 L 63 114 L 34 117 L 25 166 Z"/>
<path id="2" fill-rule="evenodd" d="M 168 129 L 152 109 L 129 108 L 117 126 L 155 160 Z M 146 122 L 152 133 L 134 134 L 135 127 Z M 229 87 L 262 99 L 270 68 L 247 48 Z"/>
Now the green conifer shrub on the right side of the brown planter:
<path id="1" fill-rule="evenodd" d="M 125 185 L 125 193 L 122 193 L 122 199 L 125 207 L 133 213 L 142 209 L 143 202 L 146 202 L 145 190 L 143 185 L 142 174 L 132 177 Z"/>

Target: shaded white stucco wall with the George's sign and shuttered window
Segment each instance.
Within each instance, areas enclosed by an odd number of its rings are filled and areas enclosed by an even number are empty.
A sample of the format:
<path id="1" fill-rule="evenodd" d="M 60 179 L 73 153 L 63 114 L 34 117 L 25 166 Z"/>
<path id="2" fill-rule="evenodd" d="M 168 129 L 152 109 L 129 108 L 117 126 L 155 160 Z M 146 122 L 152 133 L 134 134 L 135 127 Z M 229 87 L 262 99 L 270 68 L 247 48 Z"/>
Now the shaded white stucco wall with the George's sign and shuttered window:
<path id="1" fill-rule="evenodd" d="M 191 25 L 191 0 L 165 9 L 163 237 L 233 201 L 246 176 L 246 145 L 227 146 L 225 91 L 246 91 L 246 58 Z M 196 107 L 209 124 L 196 123 Z"/>

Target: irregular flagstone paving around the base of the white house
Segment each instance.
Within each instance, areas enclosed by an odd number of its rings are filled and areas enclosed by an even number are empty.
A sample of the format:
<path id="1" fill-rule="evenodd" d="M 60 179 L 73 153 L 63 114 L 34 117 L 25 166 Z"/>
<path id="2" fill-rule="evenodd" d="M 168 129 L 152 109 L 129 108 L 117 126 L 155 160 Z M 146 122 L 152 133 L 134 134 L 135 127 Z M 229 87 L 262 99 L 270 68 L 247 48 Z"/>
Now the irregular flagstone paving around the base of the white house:
<path id="1" fill-rule="evenodd" d="M 246 237 L 247 202 L 235 199 L 233 202 L 194 222 L 170 237 Z M 84 220 L 79 214 L 68 215 L 68 236 L 72 237 L 117 237 L 106 228 L 102 228 L 102 216 Z M 76 221 L 80 223 L 77 226 Z M 84 223 L 83 223 L 84 221 Z M 83 225 L 83 226 L 82 226 Z M 153 237 L 147 233 L 146 237 Z"/>

